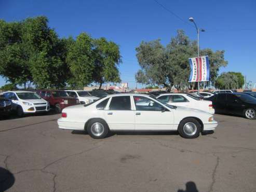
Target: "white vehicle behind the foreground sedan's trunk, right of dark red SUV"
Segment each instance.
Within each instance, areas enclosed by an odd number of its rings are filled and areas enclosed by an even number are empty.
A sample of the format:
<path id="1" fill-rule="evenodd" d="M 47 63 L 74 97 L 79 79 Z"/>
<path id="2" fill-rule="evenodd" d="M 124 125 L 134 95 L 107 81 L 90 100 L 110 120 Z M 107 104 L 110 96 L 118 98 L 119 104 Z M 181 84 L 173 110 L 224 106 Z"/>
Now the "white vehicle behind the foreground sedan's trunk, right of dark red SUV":
<path id="1" fill-rule="evenodd" d="M 97 99 L 98 97 L 92 96 L 88 91 L 83 90 L 65 90 L 70 97 L 76 98 L 79 100 L 80 104 L 88 104 Z"/>

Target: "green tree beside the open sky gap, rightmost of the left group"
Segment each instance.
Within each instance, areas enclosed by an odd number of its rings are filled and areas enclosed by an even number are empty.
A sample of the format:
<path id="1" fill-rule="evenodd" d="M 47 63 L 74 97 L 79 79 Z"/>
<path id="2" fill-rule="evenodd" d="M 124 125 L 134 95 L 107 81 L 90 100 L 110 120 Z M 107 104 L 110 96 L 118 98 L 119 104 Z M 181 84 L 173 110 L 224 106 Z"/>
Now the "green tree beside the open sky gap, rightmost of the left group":
<path id="1" fill-rule="evenodd" d="M 106 82 L 120 83 L 118 65 L 122 61 L 118 45 L 102 37 L 94 40 L 94 47 L 93 80 L 100 84 L 99 89 Z"/>

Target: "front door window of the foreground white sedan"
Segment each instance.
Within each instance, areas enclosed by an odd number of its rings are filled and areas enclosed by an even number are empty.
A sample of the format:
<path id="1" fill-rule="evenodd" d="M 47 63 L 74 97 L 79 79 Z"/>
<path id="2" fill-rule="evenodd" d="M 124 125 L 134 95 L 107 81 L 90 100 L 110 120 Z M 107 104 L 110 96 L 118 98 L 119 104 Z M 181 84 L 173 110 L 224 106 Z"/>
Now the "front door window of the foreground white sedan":
<path id="1" fill-rule="evenodd" d="M 159 103 L 145 97 L 133 96 L 137 111 L 161 111 L 163 106 Z"/>

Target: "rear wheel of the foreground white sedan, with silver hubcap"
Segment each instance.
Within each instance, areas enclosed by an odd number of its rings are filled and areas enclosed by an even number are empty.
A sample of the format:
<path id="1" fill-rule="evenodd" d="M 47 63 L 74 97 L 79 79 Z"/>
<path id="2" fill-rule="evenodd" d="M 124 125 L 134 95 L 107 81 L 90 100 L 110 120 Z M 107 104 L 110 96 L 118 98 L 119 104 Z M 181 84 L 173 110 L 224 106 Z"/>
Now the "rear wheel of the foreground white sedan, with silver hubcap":
<path id="1" fill-rule="evenodd" d="M 109 133 L 109 127 L 102 119 L 92 119 L 87 125 L 87 132 L 93 139 L 103 139 Z"/>

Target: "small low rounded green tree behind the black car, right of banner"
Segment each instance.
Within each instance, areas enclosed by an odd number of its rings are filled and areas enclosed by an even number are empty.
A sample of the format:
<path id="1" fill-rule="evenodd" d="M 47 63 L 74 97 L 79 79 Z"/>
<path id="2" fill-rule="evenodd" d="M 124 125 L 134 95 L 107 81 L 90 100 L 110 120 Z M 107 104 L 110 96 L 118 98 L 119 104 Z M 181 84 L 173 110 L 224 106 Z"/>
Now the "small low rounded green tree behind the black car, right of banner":
<path id="1" fill-rule="evenodd" d="M 237 89 L 239 87 L 239 78 L 233 73 L 222 73 L 215 82 L 215 88 L 219 89 Z"/>

